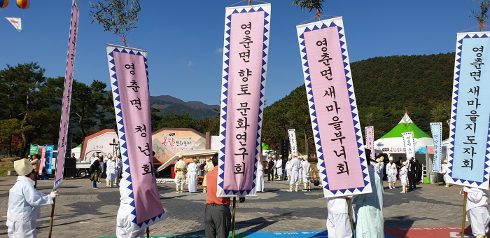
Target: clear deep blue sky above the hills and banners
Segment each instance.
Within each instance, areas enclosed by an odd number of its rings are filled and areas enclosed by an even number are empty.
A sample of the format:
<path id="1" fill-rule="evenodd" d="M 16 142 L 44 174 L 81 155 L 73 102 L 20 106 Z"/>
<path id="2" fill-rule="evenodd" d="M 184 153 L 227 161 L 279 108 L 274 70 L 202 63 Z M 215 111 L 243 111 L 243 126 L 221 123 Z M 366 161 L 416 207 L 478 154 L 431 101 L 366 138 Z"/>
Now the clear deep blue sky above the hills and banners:
<path id="1" fill-rule="evenodd" d="M 225 7 L 237 2 L 141 0 L 138 28 L 127 40 L 148 50 L 152 96 L 219 104 Z M 295 26 L 314 13 L 291 6 L 292 2 L 269 1 L 266 106 L 304 83 Z M 79 4 L 74 78 L 87 84 L 97 79 L 109 85 L 105 43 L 120 40 L 104 32 L 102 25 L 91 23 L 89 1 L 80 0 Z M 356 62 L 377 56 L 454 52 L 456 32 L 477 25 L 469 17 L 470 10 L 476 8 L 477 4 L 468 0 L 326 0 L 322 15 L 344 18 L 349 58 Z M 71 0 L 32 0 L 26 10 L 10 0 L 7 8 L 0 8 L 0 69 L 6 64 L 38 62 L 46 69 L 45 76 L 64 76 L 70 9 Z M 23 31 L 15 30 L 5 17 L 22 18 Z"/>

